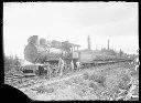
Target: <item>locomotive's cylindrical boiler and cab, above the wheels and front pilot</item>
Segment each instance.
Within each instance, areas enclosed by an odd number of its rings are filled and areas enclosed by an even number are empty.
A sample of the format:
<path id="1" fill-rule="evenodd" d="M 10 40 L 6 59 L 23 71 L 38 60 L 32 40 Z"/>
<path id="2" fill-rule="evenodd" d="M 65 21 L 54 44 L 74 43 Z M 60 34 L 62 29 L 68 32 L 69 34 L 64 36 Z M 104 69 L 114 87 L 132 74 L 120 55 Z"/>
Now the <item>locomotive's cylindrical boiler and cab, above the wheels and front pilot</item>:
<path id="1" fill-rule="evenodd" d="M 75 50 L 77 48 L 77 50 Z M 75 60 L 79 45 L 68 43 L 68 41 L 46 41 L 33 35 L 29 39 L 28 45 L 24 49 L 24 59 L 31 63 L 55 62 L 59 58 L 63 60 Z"/>

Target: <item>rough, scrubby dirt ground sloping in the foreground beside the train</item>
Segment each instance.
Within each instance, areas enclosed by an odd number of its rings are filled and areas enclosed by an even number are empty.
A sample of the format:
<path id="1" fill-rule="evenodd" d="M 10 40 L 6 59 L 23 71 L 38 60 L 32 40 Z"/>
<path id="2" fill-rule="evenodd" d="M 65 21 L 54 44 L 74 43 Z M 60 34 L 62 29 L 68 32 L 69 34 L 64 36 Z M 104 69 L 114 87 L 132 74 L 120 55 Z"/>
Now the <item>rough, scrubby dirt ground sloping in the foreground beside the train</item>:
<path id="1" fill-rule="evenodd" d="M 61 79 L 52 79 L 50 81 L 45 79 L 37 80 L 34 78 L 30 80 L 30 82 L 34 82 L 31 85 L 15 86 L 15 87 L 18 87 L 23 93 L 25 93 L 31 100 L 37 100 L 37 101 L 52 101 L 52 100 L 112 101 L 118 99 L 117 95 L 121 93 L 121 90 L 115 87 L 118 85 L 119 74 L 126 73 L 130 75 L 130 79 L 132 80 L 130 82 L 134 82 L 134 81 L 138 82 L 139 80 L 137 78 L 138 73 L 137 75 L 131 75 L 133 69 L 134 65 L 128 63 L 108 64 L 108 65 L 96 66 L 93 69 L 86 69 L 76 73 L 72 73 L 69 76 L 64 75 Z M 93 74 L 102 75 L 105 78 L 104 85 L 101 83 L 97 83 L 93 79 L 90 80 L 90 75 Z M 122 95 L 126 96 L 126 94 Z"/>

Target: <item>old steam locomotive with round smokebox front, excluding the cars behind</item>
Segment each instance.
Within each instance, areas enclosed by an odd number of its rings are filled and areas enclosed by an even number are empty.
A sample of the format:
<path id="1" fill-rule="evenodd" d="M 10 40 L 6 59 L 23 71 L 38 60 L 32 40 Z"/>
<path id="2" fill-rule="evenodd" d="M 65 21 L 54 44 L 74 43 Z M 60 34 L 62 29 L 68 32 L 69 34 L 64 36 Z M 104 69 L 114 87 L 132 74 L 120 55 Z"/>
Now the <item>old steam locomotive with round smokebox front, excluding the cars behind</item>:
<path id="1" fill-rule="evenodd" d="M 80 45 L 69 43 L 68 41 L 39 40 L 37 35 L 32 35 L 28 39 L 28 45 L 24 48 L 24 59 L 32 64 L 24 65 L 23 72 L 26 73 L 25 71 L 31 71 L 31 73 L 33 72 L 35 74 L 36 71 L 44 71 L 47 64 L 51 66 L 58 65 L 59 59 L 65 61 L 67 65 L 70 65 L 73 61 L 76 66 L 79 47 Z M 48 70 L 44 72 L 48 72 Z M 50 72 L 53 71 L 50 70 Z"/>

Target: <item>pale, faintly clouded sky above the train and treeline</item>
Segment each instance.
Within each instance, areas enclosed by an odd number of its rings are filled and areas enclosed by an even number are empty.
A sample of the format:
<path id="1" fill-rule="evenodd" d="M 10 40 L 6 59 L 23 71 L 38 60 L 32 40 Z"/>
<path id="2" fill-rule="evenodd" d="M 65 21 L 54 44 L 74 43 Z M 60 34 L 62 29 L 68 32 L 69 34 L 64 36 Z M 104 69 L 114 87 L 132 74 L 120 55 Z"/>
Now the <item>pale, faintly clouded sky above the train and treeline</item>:
<path id="1" fill-rule="evenodd" d="M 28 38 L 69 41 L 87 49 L 110 48 L 126 53 L 139 49 L 138 2 L 4 2 L 6 55 L 23 59 Z"/>

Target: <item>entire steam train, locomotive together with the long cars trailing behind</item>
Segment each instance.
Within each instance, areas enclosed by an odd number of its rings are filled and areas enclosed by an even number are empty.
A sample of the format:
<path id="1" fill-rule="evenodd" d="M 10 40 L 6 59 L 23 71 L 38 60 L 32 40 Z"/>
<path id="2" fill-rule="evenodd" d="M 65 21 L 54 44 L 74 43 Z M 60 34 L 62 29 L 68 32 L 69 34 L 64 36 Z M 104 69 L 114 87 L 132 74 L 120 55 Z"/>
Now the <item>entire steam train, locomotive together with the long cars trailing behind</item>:
<path id="1" fill-rule="evenodd" d="M 79 50 L 80 45 L 69 43 L 68 41 L 59 42 L 56 40 L 46 41 L 37 35 L 32 35 L 28 39 L 28 45 L 24 49 L 24 59 L 32 63 L 25 65 L 24 70 L 43 70 L 46 64 L 58 64 L 59 59 L 66 64 L 80 62 L 83 69 L 95 66 L 97 64 L 121 62 L 128 60 L 127 55 L 116 53 L 111 50 Z"/>

